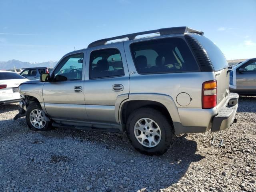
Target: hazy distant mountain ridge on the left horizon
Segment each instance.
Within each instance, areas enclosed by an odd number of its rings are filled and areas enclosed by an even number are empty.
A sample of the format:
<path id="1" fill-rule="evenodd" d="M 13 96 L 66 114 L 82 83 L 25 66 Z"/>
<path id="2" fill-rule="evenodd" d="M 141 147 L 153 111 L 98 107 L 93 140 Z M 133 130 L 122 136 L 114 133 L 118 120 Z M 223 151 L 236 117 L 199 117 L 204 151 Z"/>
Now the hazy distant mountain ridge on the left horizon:
<path id="1" fill-rule="evenodd" d="M 57 64 L 58 61 L 48 61 L 48 62 L 42 62 L 42 63 L 30 63 L 30 62 L 22 62 L 19 60 L 10 60 L 10 61 L 0 61 L 0 70 L 5 69 L 14 69 L 14 66 L 16 69 L 21 68 L 29 68 L 29 67 L 54 67 Z"/>

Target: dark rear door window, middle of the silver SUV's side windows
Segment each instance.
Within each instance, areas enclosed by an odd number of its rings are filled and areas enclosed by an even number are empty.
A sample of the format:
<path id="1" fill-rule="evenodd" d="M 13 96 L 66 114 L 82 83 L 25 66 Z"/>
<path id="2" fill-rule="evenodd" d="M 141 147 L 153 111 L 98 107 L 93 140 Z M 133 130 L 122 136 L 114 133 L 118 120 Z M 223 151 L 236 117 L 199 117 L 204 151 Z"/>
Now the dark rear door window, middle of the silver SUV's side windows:
<path id="1" fill-rule="evenodd" d="M 124 76 L 119 50 L 111 48 L 92 51 L 90 55 L 90 78 L 113 76 Z"/>

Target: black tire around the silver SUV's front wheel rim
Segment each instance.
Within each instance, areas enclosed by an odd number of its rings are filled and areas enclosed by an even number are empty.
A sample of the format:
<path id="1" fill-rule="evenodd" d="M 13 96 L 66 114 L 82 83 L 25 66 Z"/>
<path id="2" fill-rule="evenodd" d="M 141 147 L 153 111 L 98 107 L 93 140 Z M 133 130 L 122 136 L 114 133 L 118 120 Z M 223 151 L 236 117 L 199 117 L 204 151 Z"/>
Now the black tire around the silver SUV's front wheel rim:
<path id="1" fill-rule="evenodd" d="M 32 110 L 41 110 L 42 108 L 40 106 L 39 103 L 34 102 L 28 105 L 28 109 L 27 109 L 27 113 L 26 113 L 26 122 L 28 124 L 28 127 L 33 130 L 33 131 L 47 131 L 47 130 L 51 130 L 52 129 L 52 122 L 46 121 L 46 123 L 44 124 L 43 128 L 36 128 L 32 125 L 32 123 L 30 122 L 30 113 L 32 112 Z"/>

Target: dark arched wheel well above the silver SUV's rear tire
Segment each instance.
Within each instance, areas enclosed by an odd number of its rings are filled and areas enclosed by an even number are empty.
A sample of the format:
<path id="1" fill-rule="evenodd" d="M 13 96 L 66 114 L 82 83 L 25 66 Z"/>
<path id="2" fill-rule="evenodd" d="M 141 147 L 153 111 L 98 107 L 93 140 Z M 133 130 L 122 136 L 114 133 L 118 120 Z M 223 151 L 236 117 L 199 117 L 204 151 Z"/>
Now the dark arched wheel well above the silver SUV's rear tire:
<path id="1" fill-rule="evenodd" d="M 139 108 L 142 107 L 150 107 L 154 108 L 156 110 L 160 110 L 168 120 L 172 121 L 172 118 L 170 116 L 170 113 L 168 112 L 167 108 L 160 102 L 156 101 L 147 101 L 147 100 L 134 100 L 134 101 L 128 101 L 125 102 L 121 109 L 121 122 L 122 124 L 126 124 L 126 121 L 130 114 Z"/>

